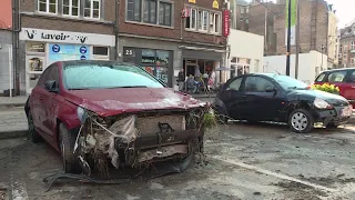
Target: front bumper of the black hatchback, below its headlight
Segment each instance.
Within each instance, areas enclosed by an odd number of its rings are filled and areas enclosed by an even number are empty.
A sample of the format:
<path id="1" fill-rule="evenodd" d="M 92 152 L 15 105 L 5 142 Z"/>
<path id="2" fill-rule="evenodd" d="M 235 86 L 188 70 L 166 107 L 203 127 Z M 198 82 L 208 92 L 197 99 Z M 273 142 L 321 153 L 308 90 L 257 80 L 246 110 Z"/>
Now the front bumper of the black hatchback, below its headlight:
<path id="1" fill-rule="evenodd" d="M 317 110 L 315 111 L 315 122 L 322 122 L 324 126 L 327 126 L 328 123 L 346 123 L 349 120 L 351 116 L 342 116 L 342 110 L 344 108 L 346 107 L 335 107 L 332 110 Z"/>

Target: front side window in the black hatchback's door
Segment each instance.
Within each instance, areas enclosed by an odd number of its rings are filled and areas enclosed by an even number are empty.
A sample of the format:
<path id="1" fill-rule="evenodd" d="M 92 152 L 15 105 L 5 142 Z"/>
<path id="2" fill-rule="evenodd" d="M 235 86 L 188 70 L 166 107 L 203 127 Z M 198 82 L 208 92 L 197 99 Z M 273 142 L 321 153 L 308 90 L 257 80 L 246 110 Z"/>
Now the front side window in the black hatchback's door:
<path id="1" fill-rule="evenodd" d="M 274 88 L 274 84 L 261 77 L 247 77 L 245 80 L 245 91 L 265 92 L 267 88 Z"/>

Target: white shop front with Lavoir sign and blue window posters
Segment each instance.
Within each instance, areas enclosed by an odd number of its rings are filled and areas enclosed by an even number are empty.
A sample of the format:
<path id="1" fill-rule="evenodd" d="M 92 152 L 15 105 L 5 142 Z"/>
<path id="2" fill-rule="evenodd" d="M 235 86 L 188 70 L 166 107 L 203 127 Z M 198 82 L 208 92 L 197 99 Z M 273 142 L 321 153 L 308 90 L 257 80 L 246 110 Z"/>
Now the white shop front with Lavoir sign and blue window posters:
<path id="1" fill-rule="evenodd" d="M 26 92 L 31 93 L 48 66 L 65 60 L 110 60 L 114 36 L 23 28 Z"/>

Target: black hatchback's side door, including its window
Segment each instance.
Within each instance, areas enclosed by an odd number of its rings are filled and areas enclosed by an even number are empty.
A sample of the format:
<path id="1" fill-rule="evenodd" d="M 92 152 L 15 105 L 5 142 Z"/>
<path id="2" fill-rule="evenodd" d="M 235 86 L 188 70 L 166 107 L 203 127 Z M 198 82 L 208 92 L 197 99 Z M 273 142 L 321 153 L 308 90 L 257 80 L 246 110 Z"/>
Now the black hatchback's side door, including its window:
<path id="1" fill-rule="evenodd" d="M 256 121 L 274 121 L 280 118 L 283 98 L 273 81 L 264 77 L 247 77 L 242 98 L 243 118 Z"/>

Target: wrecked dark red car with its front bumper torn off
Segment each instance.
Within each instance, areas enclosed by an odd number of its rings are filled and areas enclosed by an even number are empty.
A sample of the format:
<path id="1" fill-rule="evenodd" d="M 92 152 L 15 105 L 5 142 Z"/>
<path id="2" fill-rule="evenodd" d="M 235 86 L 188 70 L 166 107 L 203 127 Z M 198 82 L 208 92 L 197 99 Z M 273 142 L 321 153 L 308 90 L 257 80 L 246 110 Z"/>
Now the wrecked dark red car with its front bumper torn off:
<path id="1" fill-rule="evenodd" d="M 52 63 L 26 103 L 29 138 L 60 151 L 68 173 L 202 152 L 204 109 L 142 68 L 113 61 Z"/>

